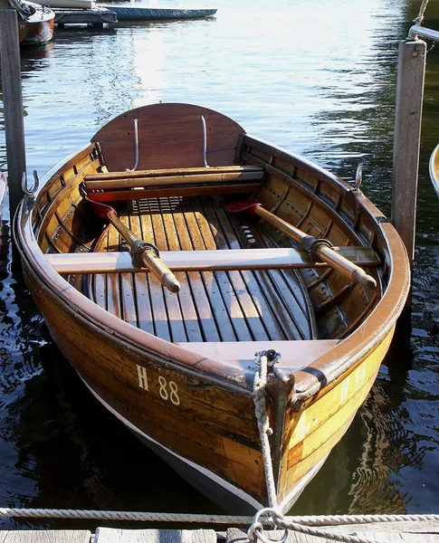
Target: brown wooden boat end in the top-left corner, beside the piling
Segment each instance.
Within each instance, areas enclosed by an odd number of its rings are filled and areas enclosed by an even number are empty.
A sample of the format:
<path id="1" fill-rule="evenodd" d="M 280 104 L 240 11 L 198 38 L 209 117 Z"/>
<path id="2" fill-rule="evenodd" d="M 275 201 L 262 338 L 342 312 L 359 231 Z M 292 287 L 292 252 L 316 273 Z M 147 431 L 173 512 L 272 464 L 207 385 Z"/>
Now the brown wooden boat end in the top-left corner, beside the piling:
<path id="1" fill-rule="evenodd" d="M 43 45 L 52 40 L 55 14 L 49 7 L 28 2 L 8 0 L 18 14 L 18 41 L 20 45 Z M 3 4 L 7 4 L 4 0 Z"/>

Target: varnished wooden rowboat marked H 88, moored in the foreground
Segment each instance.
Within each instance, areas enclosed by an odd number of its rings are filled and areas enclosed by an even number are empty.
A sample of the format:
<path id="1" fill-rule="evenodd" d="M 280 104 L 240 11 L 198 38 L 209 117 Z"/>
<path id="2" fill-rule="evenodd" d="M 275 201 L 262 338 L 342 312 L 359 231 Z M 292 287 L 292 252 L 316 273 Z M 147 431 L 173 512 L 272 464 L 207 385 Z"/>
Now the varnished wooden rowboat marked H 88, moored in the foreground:
<path id="1" fill-rule="evenodd" d="M 358 188 L 184 104 L 111 120 L 24 198 L 14 232 L 86 386 L 225 509 L 266 505 L 271 470 L 291 507 L 367 397 L 409 289 L 403 243 Z"/>

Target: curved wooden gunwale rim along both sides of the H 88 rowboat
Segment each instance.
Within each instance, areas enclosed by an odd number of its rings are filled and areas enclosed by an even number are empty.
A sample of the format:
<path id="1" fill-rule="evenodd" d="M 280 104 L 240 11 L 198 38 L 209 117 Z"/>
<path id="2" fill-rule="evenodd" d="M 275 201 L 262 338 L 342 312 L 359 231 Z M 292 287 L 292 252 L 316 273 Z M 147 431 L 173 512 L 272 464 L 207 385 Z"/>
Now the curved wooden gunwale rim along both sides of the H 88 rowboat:
<path id="1" fill-rule="evenodd" d="M 384 215 L 377 210 L 377 207 L 361 191 L 349 186 L 329 171 L 318 166 L 314 167 L 311 162 L 303 159 L 303 157 L 298 157 L 285 149 L 272 146 L 272 144 L 261 139 L 253 139 L 281 152 L 285 157 L 293 157 L 299 160 L 301 164 L 310 167 L 313 171 L 319 171 L 331 182 L 337 183 L 342 189 L 353 195 L 358 205 L 363 208 L 363 212 L 374 220 L 377 230 L 380 231 L 385 241 L 384 249 L 386 249 L 387 258 L 390 261 L 389 281 L 386 291 L 377 302 L 377 306 L 367 316 L 367 319 L 347 338 L 339 341 L 335 347 L 320 355 L 307 367 L 291 371 L 291 374 L 295 377 L 295 393 L 298 398 L 304 400 L 338 379 L 349 368 L 354 367 L 362 358 L 367 356 L 367 353 L 377 348 L 388 333 L 393 331 L 396 319 L 403 310 L 404 301 L 410 288 L 410 271 L 406 260 L 406 250 L 393 225 L 381 220 Z M 111 315 L 80 291 L 74 289 L 71 283 L 54 271 L 45 258 L 33 233 L 36 197 L 43 195 L 43 191 L 50 188 L 50 180 L 59 175 L 63 169 L 67 169 L 73 159 L 79 156 L 83 157 L 86 151 L 91 152 L 93 148 L 95 148 L 95 145 L 88 143 L 65 157 L 42 177 L 42 184 L 35 195 L 25 197 L 22 201 L 15 216 L 14 237 L 24 262 L 38 277 L 38 280 L 43 282 L 45 288 L 52 291 L 52 295 L 63 303 L 67 312 L 73 313 L 75 318 L 81 317 L 81 319 L 85 319 L 92 326 L 99 329 L 101 333 L 112 338 L 113 341 L 117 338 L 117 340 L 128 344 L 129 348 L 135 348 L 138 354 L 147 355 L 157 361 L 161 359 L 165 364 L 169 364 L 169 361 L 171 361 L 179 368 L 184 367 L 186 372 L 193 371 L 198 378 L 203 376 L 203 378 L 215 383 L 216 386 L 226 386 L 227 388 L 231 386 L 234 390 L 239 389 L 242 393 L 251 394 L 252 383 L 248 378 L 246 382 L 239 382 L 236 376 L 224 376 L 224 369 L 226 368 L 223 363 L 201 355 L 197 356 L 185 348 L 180 348 L 174 343 L 157 338 L 157 336 L 153 336 L 144 330 L 136 329 L 129 323 Z M 67 181 L 66 186 L 68 183 L 69 181 Z M 54 197 L 56 198 L 56 193 Z M 375 214 L 378 216 L 375 216 Z M 30 217 L 33 217 L 33 219 L 30 220 Z M 404 270 L 396 271 L 396 260 L 406 261 Z M 378 316 L 381 317 L 379 322 L 382 324 L 377 329 Z M 201 360 L 203 361 L 202 366 L 205 366 L 204 368 L 200 367 Z M 194 369 L 195 366 L 196 369 Z M 236 374 L 236 367 L 230 367 L 230 369 L 232 373 Z M 240 378 L 241 381 L 245 379 L 244 372 Z"/>

